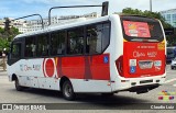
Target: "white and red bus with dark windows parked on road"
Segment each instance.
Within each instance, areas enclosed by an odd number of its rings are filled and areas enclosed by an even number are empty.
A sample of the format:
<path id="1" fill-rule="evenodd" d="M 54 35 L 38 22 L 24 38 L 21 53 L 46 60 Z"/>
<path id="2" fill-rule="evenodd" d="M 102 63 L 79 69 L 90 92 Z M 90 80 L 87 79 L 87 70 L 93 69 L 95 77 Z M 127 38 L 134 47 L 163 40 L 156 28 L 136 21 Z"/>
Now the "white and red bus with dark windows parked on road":
<path id="1" fill-rule="evenodd" d="M 145 93 L 165 81 L 166 39 L 156 19 L 111 14 L 20 34 L 8 76 L 15 89 L 77 93 Z"/>

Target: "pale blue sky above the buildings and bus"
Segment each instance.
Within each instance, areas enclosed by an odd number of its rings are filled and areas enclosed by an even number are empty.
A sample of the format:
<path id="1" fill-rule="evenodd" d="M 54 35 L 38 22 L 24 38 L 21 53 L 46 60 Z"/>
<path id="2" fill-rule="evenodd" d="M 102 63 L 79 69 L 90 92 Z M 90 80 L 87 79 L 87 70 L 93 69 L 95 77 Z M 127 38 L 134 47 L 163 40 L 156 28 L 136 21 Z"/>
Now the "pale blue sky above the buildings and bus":
<path id="1" fill-rule="evenodd" d="M 106 0 L 0 0 L 0 19 L 21 18 L 38 13 L 46 18 L 52 7 L 63 5 L 92 5 L 101 4 Z M 109 1 L 109 13 L 121 12 L 124 8 L 150 10 L 150 0 L 107 0 Z M 152 0 L 153 11 L 176 9 L 176 0 Z M 52 15 L 69 15 L 90 12 L 100 12 L 101 8 L 86 9 L 57 9 L 52 11 Z"/>

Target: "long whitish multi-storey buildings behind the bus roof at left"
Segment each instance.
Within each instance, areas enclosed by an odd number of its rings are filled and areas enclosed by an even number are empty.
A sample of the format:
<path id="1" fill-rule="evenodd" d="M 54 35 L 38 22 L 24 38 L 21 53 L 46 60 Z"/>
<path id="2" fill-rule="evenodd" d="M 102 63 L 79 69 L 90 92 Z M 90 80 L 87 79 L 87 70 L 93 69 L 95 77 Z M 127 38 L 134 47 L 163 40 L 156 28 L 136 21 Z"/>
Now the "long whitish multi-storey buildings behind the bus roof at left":
<path id="1" fill-rule="evenodd" d="M 78 22 L 80 20 L 88 20 L 88 19 L 94 19 L 98 18 L 98 14 L 96 12 L 89 13 L 89 14 L 84 14 L 84 15 L 67 15 L 67 16 L 52 16 L 51 18 L 51 25 L 63 25 L 67 23 L 74 23 Z M 13 20 L 9 18 L 9 20 Z M 4 19 L 0 20 L 0 27 L 4 27 Z M 44 27 L 48 26 L 48 19 L 43 19 L 43 24 Z M 26 32 L 34 32 L 42 30 L 42 21 L 41 20 L 30 20 L 26 21 L 24 19 L 11 21 L 10 23 L 11 26 L 19 29 L 20 33 L 26 33 Z"/>

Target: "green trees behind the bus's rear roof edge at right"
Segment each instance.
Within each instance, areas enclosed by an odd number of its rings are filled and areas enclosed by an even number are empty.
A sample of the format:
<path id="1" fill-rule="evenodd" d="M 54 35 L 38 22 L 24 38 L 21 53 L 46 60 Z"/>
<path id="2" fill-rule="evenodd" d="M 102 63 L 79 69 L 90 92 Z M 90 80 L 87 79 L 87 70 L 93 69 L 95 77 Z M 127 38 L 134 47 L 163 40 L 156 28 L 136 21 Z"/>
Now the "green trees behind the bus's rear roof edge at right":
<path id="1" fill-rule="evenodd" d="M 138 9 L 131 9 L 131 8 L 127 8 L 127 9 L 123 9 L 122 10 L 122 13 L 123 14 L 135 14 L 135 15 L 143 15 L 143 16 L 148 16 L 148 18 L 153 18 L 153 19 L 158 19 L 164 29 L 172 29 L 173 26 L 167 23 L 165 21 L 165 19 L 162 16 L 162 14 L 160 12 L 151 12 L 151 11 L 142 11 L 142 10 L 138 10 Z M 167 39 L 167 43 L 168 45 L 175 45 L 176 44 L 176 33 L 174 35 L 169 35 L 169 36 L 166 36 L 166 39 Z"/>

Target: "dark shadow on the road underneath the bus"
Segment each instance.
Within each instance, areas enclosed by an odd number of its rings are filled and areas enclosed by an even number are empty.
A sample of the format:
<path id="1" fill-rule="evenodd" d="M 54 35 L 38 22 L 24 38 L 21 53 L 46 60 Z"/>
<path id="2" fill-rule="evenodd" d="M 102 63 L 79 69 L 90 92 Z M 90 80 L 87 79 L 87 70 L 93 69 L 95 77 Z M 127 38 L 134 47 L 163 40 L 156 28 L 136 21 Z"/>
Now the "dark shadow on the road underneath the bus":
<path id="1" fill-rule="evenodd" d="M 11 90 L 14 93 L 14 89 Z M 51 91 L 51 90 L 43 90 L 43 89 L 33 89 L 33 88 L 29 88 L 22 91 L 23 93 L 32 93 L 32 94 L 37 94 L 37 95 L 43 95 L 43 97 L 48 97 L 48 98 L 56 98 L 56 99 L 62 99 L 64 100 L 62 92 L 58 91 Z M 91 93 L 91 94 L 84 94 L 84 93 L 79 93 L 77 94 L 77 98 L 75 101 L 68 101 L 67 103 L 84 103 L 86 105 L 89 106 L 94 106 L 96 105 L 96 108 L 99 109 L 113 109 L 117 106 L 119 108 L 124 108 L 124 106 L 131 106 L 134 103 L 146 103 L 148 102 L 145 99 L 135 99 L 133 97 L 128 97 L 128 95 L 113 95 L 113 97 L 102 97 L 99 93 Z M 59 103 L 59 100 L 58 100 Z"/>

